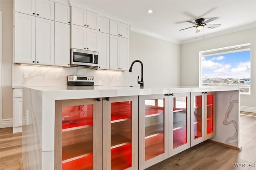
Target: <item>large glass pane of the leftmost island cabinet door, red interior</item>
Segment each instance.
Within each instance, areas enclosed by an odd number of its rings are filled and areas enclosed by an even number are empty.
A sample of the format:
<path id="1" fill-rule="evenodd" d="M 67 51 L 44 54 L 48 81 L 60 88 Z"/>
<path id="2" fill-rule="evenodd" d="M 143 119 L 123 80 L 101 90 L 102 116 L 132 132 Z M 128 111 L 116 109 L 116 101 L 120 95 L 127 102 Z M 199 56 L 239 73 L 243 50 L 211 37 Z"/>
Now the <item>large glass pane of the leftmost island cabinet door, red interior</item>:
<path id="1" fill-rule="evenodd" d="M 92 169 L 93 104 L 62 107 L 62 169 Z"/>

